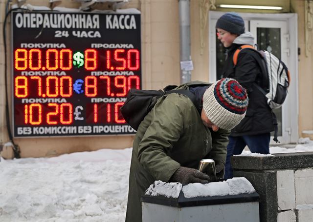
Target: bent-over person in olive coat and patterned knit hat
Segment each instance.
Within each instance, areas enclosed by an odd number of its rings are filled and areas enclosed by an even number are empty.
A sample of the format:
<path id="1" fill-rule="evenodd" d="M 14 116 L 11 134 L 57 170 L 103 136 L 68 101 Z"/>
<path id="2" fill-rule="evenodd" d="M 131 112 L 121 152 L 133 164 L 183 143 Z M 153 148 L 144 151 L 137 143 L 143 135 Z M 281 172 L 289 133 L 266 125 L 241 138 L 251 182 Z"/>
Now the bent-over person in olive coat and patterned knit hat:
<path id="1" fill-rule="evenodd" d="M 223 178 L 230 129 L 246 114 L 246 90 L 233 79 L 214 84 L 189 82 L 158 99 L 141 121 L 133 144 L 126 222 L 141 222 L 140 197 L 154 181 L 193 183 L 209 181 L 197 170 L 201 159 L 213 159 Z M 194 104 L 195 103 L 195 104 Z"/>

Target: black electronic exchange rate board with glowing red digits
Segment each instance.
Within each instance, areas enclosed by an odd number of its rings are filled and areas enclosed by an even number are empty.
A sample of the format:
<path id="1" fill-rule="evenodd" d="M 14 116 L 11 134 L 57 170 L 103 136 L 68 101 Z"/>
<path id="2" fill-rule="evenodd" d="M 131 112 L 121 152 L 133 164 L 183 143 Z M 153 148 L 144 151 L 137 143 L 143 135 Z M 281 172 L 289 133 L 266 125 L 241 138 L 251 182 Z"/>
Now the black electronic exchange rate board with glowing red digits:
<path id="1" fill-rule="evenodd" d="M 12 12 L 15 137 L 133 134 L 140 14 Z"/>

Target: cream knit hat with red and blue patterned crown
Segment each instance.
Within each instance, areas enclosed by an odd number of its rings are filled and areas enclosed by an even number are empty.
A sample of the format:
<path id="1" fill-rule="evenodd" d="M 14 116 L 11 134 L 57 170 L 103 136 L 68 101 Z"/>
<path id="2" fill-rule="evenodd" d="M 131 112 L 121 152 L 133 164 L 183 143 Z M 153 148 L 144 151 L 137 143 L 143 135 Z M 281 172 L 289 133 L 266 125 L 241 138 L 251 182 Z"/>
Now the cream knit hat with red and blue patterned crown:
<path id="1" fill-rule="evenodd" d="M 246 89 L 234 79 L 216 81 L 203 94 L 206 117 L 222 129 L 231 130 L 246 115 Z"/>

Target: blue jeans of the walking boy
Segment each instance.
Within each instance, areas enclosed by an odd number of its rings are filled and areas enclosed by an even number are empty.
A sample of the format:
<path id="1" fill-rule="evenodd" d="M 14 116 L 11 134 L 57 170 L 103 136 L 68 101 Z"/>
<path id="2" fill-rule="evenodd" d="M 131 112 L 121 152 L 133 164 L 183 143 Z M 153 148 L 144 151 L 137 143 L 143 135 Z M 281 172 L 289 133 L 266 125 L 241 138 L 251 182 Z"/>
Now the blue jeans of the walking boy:
<path id="1" fill-rule="evenodd" d="M 250 149 L 251 153 L 269 154 L 270 133 L 241 137 L 229 136 L 228 138 L 229 143 L 227 145 L 224 179 L 233 178 L 233 168 L 230 164 L 230 157 L 241 154 L 246 145 Z"/>

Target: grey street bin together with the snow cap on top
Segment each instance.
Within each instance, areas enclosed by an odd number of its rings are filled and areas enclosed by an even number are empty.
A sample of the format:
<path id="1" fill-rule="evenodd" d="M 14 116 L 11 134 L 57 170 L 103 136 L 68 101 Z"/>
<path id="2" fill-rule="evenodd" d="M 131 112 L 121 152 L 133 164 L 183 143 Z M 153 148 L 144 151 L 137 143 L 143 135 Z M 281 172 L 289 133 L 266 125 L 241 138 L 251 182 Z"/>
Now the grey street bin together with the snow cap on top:
<path id="1" fill-rule="evenodd" d="M 259 195 L 246 178 L 221 182 L 155 181 L 141 198 L 143 222 L 259 222 Z"/>

